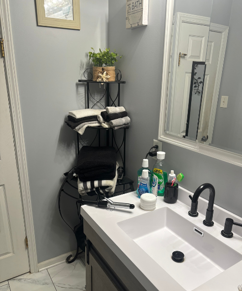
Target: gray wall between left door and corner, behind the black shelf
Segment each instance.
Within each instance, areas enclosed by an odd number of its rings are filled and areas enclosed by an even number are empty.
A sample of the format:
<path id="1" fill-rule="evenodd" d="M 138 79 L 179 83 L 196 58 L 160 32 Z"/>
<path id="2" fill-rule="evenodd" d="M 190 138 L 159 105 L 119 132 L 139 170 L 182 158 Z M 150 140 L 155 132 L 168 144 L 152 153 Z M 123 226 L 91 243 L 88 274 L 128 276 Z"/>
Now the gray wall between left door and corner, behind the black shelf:
<path id="1" fill-rule="evenodd" d="M 37 256 L 42 262 L 76 249 L 74 234 L 57 206 L 62 174 L 76 162 L 76 134 L 64 119 L 68 111 L 85 108 L 84 87 L 76 81 L 89 66 L 90 48 L 107 46 L 108 1 L 81 0 L 80 31 L 37 26 L 35 1 L 9 2 Z M 88 140 L 87 135 L 83 138 Z M 75 226 L 75 201 L 63 197 L 62 208 Z"/>

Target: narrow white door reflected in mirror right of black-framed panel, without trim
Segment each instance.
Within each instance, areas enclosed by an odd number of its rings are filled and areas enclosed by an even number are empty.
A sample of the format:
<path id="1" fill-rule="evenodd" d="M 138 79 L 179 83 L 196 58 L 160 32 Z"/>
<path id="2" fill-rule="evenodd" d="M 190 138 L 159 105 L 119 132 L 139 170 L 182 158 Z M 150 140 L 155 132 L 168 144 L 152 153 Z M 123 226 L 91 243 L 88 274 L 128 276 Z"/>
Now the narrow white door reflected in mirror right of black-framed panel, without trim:
<path id="1" fill-rule="evenodd" d="M 203 136 L 207 137 L 208 135 L 212 98 L 218 67 L 218 57 L 221 48 L 221 40 L 221 32 L 209 32 L 208 50 L 206 56 L 207 66 L 205 72 L 201 112 L 197 132 L 198 141 L 201 141 L 201 138 Z"/>

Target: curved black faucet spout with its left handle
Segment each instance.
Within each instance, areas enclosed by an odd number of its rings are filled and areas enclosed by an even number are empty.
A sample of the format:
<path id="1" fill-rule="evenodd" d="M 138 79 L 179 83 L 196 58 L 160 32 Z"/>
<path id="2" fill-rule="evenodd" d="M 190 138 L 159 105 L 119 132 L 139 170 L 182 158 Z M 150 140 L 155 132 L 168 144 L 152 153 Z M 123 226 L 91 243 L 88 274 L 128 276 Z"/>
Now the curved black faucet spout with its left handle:
<path id="1" fill-rule="evenodd" d="M 214 223 L 212 221 L 212 216 L 213 216 L 213 204 L 214 204 L 214 198 L 215 198 L 215 189 L 212 186 L 212 184 L 209 184 L 209 183 L 202 184 L 201 186 L 199 186 L 197 188 L 193 197 L 191 195 L 189 195 L 189 198 L 192 200 L 192 204 L 191 204 L 191 210 L 188 211 L 188 214 L 190 216 L 193 216 L 193 217 L 198 216 L 198 212 L 197 212 L 198 198 L 199 198 L 200 194 L 205 189 L 209 189 L 210 194 L 209 194 L 209 205 L 207 208 L 206 217 L 205 217 L 205 220 L 203 221 L 203 224 L 205 226 L 213 226 Z"/>

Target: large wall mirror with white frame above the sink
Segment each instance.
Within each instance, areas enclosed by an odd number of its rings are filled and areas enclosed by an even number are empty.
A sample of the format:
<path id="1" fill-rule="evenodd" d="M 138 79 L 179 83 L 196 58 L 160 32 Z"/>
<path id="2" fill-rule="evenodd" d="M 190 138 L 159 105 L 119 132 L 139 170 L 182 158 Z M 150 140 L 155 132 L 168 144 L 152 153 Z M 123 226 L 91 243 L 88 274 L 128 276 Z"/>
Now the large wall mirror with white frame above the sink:
<path id="1" fill-rule="evenodd" d="M 242 166 L 241 0 L 167 0 L 159 139 Z"/>

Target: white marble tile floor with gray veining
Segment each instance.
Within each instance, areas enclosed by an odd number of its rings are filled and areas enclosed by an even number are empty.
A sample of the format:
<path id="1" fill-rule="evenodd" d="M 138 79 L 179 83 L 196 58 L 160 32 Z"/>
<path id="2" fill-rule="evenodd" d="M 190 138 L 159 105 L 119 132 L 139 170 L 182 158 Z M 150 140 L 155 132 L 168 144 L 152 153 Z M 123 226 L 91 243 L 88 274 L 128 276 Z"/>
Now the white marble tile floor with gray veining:
<path id="1" fill-rule="evenodd" d="M 86 291 L 85 258 L 0 283 L 0 291 Z"/>

